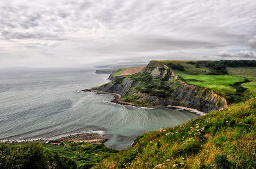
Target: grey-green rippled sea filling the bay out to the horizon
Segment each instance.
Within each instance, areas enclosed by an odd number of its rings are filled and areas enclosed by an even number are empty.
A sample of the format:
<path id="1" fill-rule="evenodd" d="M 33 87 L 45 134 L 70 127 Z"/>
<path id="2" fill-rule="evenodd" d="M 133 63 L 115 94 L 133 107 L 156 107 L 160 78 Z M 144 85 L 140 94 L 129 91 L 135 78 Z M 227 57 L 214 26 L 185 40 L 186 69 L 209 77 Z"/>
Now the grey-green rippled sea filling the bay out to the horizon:
<path id="1" fill-rule="evenodd" d="M 0 69 L 0 140 L 58 138 L 81 132 L 108 137 L 124 149 L 136 136 L 172 127 L 200 114 L 174 108 L 111 103 L 113 95 L 82 92 L 109 82 L 109 74 L 86 69 Z"/>

